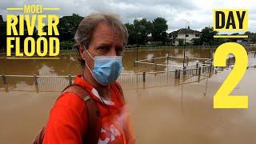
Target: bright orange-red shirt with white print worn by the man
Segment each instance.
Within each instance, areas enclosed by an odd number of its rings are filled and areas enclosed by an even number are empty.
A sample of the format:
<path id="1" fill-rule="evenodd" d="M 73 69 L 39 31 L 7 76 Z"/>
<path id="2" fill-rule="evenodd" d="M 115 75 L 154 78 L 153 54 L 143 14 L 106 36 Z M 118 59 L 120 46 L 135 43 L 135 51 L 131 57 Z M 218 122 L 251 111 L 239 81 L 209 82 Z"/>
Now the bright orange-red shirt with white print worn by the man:
<path id="1" fill-rule="evenodd" d="M 74 83 L 90 90 L 97 102 L 102 118 L 99 144 L 128 143 L 126 139 L 134 142 L 126 106 L 122 104 L 121 92 L 114 84 L 110 84 L 111 101 L 105 101 L 99 98 L 98 91 L 94 87 L 81 78 L 81 74 L 75 78 Z M 86 134 L 87 122 L 86 104 L 82 98 L 74 93 L 62 94 L 50 110 L 43 143 L 82 143 L 84 134 Z M 123 127 L 129 129 L 127 131 L 130 138 L 126 138 Z"/>

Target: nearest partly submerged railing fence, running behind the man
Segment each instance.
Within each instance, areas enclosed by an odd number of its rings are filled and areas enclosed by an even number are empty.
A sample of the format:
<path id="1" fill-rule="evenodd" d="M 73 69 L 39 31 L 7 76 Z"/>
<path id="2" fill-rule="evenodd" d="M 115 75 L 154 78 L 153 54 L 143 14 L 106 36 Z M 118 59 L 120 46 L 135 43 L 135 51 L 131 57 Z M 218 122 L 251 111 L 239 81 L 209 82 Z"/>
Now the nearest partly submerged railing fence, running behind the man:
<path id="1" fill-rule="evenodd" d="M 190 82 L 200 82 L 210 77 L 214 71 L 212 65 L 198 66 L 194 69 L 170 70 L 121 74 L 118 82 L 123 90 L 144 89 L 155 86 L 178 86 Z M 74 82 L 75 76 L 42 75 L 0 75 L 2 91 L 62 91 Z"/>

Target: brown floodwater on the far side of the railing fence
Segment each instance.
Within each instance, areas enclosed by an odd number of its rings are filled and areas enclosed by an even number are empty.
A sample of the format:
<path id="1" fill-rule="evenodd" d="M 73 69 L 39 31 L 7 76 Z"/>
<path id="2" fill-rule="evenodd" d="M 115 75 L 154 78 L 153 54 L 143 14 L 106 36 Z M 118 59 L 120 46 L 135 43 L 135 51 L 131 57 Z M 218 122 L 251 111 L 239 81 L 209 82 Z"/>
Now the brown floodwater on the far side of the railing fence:
<path id="1" fill-rule="evenodd" d="M 135 50 L 126 50 L 123 55 L 123 73 L 140 72 L 150 70 L 152 67 L 139 65 L 134 67 L 136 59 Z M 138 59 L 158 58 L 170 54 L 174 57 L 182 57 L 182 49 L 159 49 L 159 50 L 138 50 Z M 187 57 L 208 58 L 209 49 L 190 48 L 186 50 Z M 81 73 L 81 66 L 77 61 L 78 55 L 60 54 L 59 60 L 14 60 L 2 57 L 0 58 L 0 74 L 15 74 L 15 75 L 76 75 Z M 166 59 L 160 59 L 158 63 L 166 63 Z M 177 65 L 182 63 L 181 59 L 170 59 L 170 64 Z M 48 68 L 46 68 L 46 66 Z M 159 66 L 158 70 L 165 70 L 166 67 Z"/>

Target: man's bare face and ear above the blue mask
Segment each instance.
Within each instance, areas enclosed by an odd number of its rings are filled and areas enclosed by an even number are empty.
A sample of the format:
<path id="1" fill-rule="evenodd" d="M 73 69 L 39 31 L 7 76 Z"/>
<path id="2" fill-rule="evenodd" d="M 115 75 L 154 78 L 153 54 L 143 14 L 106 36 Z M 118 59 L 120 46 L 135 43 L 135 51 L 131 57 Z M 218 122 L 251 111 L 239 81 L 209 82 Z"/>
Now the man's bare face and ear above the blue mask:
<path id="1" fill-rule="evenodd" d="M 90 44 L 86 47 L 92 57 L 95 56 L 122 56 L 123 40 L 121 34 L 114 30 L 108 23 L 100 22 L 95 27 L 94 34 L 90 38 Z M 93 70 L 94 60 L 80 47 L 80 54 L 87 65 Z"/>

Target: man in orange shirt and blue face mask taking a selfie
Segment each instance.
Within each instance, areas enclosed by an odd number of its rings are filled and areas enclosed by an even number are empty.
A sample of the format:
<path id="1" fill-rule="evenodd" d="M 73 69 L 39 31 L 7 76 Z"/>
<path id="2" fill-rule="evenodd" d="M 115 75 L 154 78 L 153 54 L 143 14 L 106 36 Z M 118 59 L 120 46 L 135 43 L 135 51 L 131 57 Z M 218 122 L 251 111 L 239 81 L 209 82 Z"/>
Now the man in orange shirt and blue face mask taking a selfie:
<path id="1" fill-rule="evenodd" d="M 86 105 L 78 92 L 64 90 L 50 111 L 43 143 L 134 143 L 122 90 L 115 82 L 127 38 L 126 27 L 112 14 L 90 14 L 80 22 L 74 39 L 83 72 L 74 84 L 88 91 L 97 105 L 100 131 L 89 129 L 95 125 L 90 122 L 94 106 Z M 90 141 L 95 135 L 98 142 Z"/>

